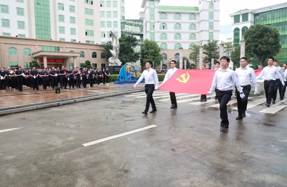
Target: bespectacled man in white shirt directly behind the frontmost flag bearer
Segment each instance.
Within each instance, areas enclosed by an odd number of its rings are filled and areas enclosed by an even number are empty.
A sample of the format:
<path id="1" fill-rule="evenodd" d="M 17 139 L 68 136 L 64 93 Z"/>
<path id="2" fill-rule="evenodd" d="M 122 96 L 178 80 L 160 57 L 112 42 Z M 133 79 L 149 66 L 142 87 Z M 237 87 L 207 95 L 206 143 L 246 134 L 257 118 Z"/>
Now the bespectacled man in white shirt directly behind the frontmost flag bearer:
<path id="1" fill-rule="evenodd" d="M 253 86 L 255 86 L 254 94 L 257 94 L 258 84 L 256 82 L 255 72 L 252 68 L 247 67 L 248 61 L 246 57 L 240 59 L 240 68 L 235 70 L 240 86 L 243 88 L 242 91 L 245 95 L 243 99 L 239 96 L 239 92 L 236 88 L 236 99 L 238 116 L 236 119 L 242 119 L 246 116 L 245 111 L 247 110 L 248 96 L 251 90 L 250 80 L 252 79 Z"/>

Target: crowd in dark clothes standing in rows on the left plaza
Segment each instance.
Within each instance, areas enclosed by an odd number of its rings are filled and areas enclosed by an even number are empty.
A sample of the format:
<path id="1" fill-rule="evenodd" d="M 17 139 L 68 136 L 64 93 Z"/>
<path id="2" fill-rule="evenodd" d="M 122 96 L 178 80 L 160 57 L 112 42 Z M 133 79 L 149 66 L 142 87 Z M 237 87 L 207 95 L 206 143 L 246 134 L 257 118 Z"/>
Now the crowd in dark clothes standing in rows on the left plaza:
<path id="1" fill-rule="evenodd" d="M 106 68 L 82 68 L 82 70 L 65 66 L 62 68 L 36 68 L 22 69 L 18 68 L 6 68 L 1 67 L 0 70 L 0 91 L 6 91 L 6 88 L 11 90 L 23 91 L 23 87 L 32 88 L 32 90 L 38 90 L 39 86 L 43 87 L 43 90 L 59 86 L 61 89 L 69 88 L 87 88 L 87 85 L 93 87 L 93 85 L 106 84 L 109 85 L 110 72 L 108 67 Z"/>

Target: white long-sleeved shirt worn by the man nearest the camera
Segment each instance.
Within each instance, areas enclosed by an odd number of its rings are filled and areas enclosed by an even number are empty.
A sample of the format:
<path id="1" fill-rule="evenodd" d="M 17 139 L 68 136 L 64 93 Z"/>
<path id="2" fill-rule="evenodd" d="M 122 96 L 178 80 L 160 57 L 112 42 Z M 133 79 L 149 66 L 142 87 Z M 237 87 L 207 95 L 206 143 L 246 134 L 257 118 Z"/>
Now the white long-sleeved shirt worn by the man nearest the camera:
<path id="1" fill-rule="evenodd" d="M 236 86 L 238 92 L 242 91 L 242 87 L 238 82 L 235 71 L 230 68 L 227 68 L 224 71 L 219 69 L 214 73 L 210 92 L 213 92 L 215 87 L 221 91 L 232 90 L 233 85 Z"/>

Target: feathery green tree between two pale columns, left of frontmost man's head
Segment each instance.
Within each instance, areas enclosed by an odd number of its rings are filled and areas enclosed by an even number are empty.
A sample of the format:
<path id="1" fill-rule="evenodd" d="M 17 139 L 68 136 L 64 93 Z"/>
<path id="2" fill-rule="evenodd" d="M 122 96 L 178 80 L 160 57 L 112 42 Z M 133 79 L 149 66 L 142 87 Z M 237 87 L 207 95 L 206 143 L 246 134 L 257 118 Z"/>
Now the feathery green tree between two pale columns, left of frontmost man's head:
<path id="1" fill-rule="evenodd" d="M 214 58 L 214 64 L 219 60 L 219 46 L 216 40 L 208 40 L 206 44 L 203 45 L 203 58 L 204 64 L 211 64 L 211 59 Z"/>

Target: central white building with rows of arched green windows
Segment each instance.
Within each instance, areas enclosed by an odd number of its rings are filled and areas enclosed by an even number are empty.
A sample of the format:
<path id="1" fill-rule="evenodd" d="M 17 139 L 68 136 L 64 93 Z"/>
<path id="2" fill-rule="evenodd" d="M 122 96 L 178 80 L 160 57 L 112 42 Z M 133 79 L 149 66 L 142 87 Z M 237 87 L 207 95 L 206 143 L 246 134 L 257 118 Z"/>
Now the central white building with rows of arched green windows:
<path id="1" fill-rule="evenodd" d="M 164 67 L 171 59 L 179 58 L 180 46 L 183 56 L 193 62 L 193 45 L 219 40 L 219 0 L 199 0 L 198 7 L 162 6 L 159 2 L 143 0 L 140 19 L 144 20 L 144 39 L 156 41 L 162 49 Z"/>

